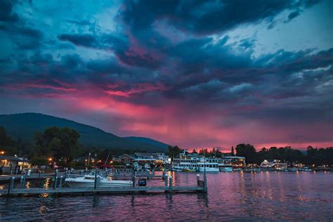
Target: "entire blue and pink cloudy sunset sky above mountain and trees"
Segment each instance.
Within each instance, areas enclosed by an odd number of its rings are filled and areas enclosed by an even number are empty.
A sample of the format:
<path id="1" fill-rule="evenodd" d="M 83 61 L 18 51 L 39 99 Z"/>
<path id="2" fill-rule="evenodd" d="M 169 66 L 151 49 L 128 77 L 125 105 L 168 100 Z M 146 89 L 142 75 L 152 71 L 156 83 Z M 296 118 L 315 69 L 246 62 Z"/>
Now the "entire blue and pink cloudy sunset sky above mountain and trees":
<path id="1" fill-rule="evenodd" d="M 0 0 L 0 113 L 181 148 L 333 145 L 333 1 Z"/>

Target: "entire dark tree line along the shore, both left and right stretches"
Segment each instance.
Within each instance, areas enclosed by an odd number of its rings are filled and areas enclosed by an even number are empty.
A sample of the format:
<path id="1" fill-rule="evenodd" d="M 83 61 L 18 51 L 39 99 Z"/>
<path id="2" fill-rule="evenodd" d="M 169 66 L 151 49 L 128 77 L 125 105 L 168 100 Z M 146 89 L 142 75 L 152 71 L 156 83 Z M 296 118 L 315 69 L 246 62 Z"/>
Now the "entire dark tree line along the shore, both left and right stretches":
<path id="1" fill-rule="evenodd" d="M 122 148 L 100 149 L 85 147 L 79 143 L 79 138 L 79 133 L 74 129 L 51 126 L 44 131 L 35 132 L 34 142 L 31 144 L 22 141 L 20 138 L 14 140 L 7 136 L 6 129 L 0 126 L 0 151 L 4 151 L 6 155 L 18 155 L 18 157 L 29 158 L 32 164 L 48 164 L 51 158 L 64 166 L 75 164 L 73 159 L 77 157 L 88 157 L 89 152 L 91 152 L 91 157 L 98 158 L 103 162 L 107 159 L 109 153 L 110 157 L 112 157 L 123 153 L 144 152 L 142 150 L 124 150 Z M 178 146 L 169 146 L 168 151 L 171 158 L 178 157 L 183 152 Z M 197 152 L 197 150 L 193 151 Z M 215 148 L 212 150 L 200 149 L 198 153 L 206 157 L 237 155 L 245 157 L 248 164 L 260 164 L 264 159 L 280 159 L 282 162 L 301 162 L 311 165 L 333 164 L 333 147 L 313 148 L 308 146 L 305 153 L 290 146 L 261 148 L 261 150 L 256 151 L 253 145 L 243 143 L 238 144 L 235 150 L 232 147 L 229 153 L 223 153 Z"/>

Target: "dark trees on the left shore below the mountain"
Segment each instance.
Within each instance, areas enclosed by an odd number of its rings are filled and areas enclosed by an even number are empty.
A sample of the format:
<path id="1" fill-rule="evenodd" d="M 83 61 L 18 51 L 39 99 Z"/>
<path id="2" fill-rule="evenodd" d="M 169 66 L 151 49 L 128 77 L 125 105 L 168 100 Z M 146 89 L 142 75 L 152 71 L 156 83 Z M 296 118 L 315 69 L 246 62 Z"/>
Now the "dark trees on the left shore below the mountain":
<path id="1" fill-rule="evenodd" d="M 123 153 L 139 152 L 139 150 L 124 150 L 122 148 L 86 147 L 79 143 L 80 135 L 70 128 L 47 127 L 44 131 L 34 132 L 32 143 L 23 142 L 22 139 L 13 139 L 7 135 L 6 129 L 0 126 L 0 151 L 4 155 L 17 155 L 30 160 L 34 165 L 47 165 L 57 162 L 58 166 L 83 166 L 85 159 L 99 159 L 104 163 L 109 157 Z M 79 161 L 73 161 L 84 157 Z"/>

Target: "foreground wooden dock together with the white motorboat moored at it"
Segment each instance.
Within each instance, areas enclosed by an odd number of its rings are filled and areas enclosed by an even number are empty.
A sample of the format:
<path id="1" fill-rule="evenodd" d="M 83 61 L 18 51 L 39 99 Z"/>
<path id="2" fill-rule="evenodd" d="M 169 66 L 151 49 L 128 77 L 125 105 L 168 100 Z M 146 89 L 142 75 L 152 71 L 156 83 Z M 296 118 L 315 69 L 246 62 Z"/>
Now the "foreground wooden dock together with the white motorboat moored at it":
<path id="1" fill-rule="evenodd" d="M 26 179 L 20 177 L 20 183 L 15 185 L 15 177 L 11 178 L 11 182 L 6 190 L 0 190 L 0 197 L 22 196 L 22 195 L 73 195 L 73 194 L 114 194 L 114 193 L 132 193 L 143 194 L 146 192 L 207 192 L 207 177 L 204 176 L 200 179 L 200 174 L 197 174 L 197 183 L 192 186 L 174 186 L 172 176 L 166 175 L 164 171 L 162 176 L 164 178 L 163 186 L 146 186 L 146 179 L 142 179 L 142 176 L 138 178 L 133 172 L 132 181 L 119 181 L 117 179 L 107 179 L 105 176 L 101 176 L 98 170 L 93 170 L 89 174 L 84 176 L 67 175 L 64 178 L 63 175 L 54 175 L 53 187 L 47 188 L 26 188 Z M 141 179 L 140 179 L 141 178 Z M 149 178 L 149 177 L 148 177 Z M 147 178 L 147 179 L 148 179 Z M 155 177 L 157 178 L 157 176 Z M 65 183 L 63 183 L 65 182 Z M 138 183 L 136 183 L 138 182 Z M 144 183 L 143 183 L 144 182 Z M 67 186 L 63 186 L 67 185 Z"/>

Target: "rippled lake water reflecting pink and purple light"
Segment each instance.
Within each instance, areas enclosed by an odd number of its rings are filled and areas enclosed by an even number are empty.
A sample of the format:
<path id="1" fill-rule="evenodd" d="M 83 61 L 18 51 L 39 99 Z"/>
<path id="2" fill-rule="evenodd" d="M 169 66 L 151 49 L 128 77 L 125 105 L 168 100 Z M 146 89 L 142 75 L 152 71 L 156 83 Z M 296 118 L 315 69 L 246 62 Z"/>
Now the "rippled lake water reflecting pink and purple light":
<path id="1" fill-rule="evenodd" d="M 195 173 L 172 175 L 175 185 L 196 183 Z M 221 172 L 207 179 L 207 194 L 0 197 L 0 221 L 333 220 L 333 172 Z"/>

